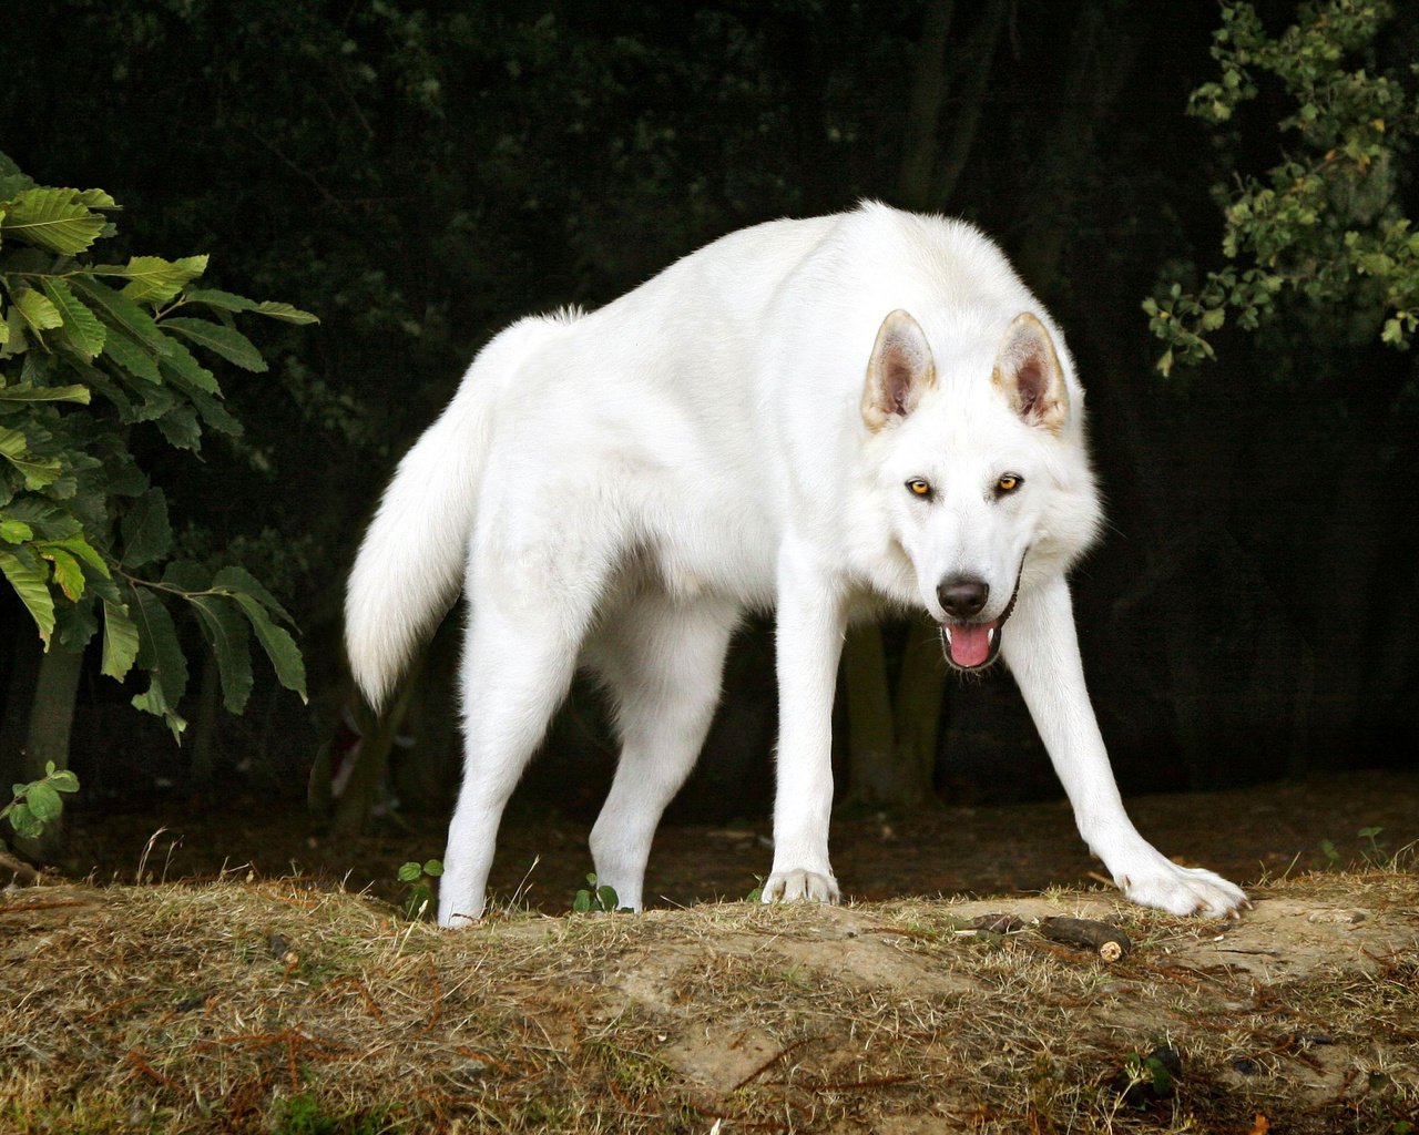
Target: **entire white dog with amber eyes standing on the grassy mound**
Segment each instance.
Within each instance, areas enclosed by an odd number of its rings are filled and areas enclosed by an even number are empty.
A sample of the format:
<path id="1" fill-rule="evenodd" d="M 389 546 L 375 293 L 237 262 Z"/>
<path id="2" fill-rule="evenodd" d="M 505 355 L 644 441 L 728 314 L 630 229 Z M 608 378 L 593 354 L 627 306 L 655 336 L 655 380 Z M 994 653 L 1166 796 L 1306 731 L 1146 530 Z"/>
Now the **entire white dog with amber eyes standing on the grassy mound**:
<path id="1" fill-rule="evenodd" d="M 614 698 L 620 763 L 592 830 L 629 907 L 700 753 L 729 637 L 778 610 L 765 901 L 839 897 L 827 857 L 844 629 L 905 607 L 961 670 L 1003 655 L 1128 898 L 1246 902 L 1124 813 L 1064 573 L 1100 505 L 1064 340 L 966 224 L 863 204 L 734 233 L 590 314 L 528 318 L 474 360 L 399 465 L 350 575 L 372 704 L 463 589 L 465 768 L 438 921 L 482 912 L 504 804 L 578 665 Z"/>

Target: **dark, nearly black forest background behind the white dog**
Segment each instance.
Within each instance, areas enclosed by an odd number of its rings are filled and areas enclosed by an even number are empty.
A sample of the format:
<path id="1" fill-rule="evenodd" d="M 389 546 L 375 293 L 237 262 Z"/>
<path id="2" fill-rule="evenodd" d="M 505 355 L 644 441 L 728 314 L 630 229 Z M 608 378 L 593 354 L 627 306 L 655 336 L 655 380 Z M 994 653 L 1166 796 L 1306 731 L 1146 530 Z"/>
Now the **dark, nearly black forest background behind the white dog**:
<path id="1" fill-rule="evenodd" d="M 1277 28 L 1296 13 L 1259 9 Z M 522 314 L 604 304 L 734 228 L 861 197 L 979 223 L 1066 328 L 1110 515 L 1074 579 L 1080 637 L 1125 792 L 1412 768 L 1413 352 L 1357 339 L 1351 312 L 1300 305 L 1260 333 L 1220 332 L 1216 362 L 1155 369 L 1141 302 L 1165 277 L 1219 265 L 1213 187 L 1276 165 L 1276 123 L 1294 109 L 1263 88 L 1222 132 L 1185 114 L 1216 78 L 1218 23 L 1209 3 L 1128 0 L 10 13 L 0 150 L 43 184 L 112 193 L 119 243 L 210 253 L 213 287 L 322 321 L 263 329 L 270 373 L 223 375 L 243 438 L 200 460 L 146 455 L 180 542 L 230 550 L 295 614 L 311 705 L 267 682 L 227 715 L 209 661 L 179 748 L 92 664 L 71 739 L 79 806 L 142 807 L 169 786 L 301 804 L 353 707 L 341 603 L 356 541 L 473 352 Z M 1419 18 L 1398 16 L 1376 50 L 1419 58 Z M 1401 190 L 1413 193 L 1412 170 Z M 407 807 L 441 807 L 455 783 L 455 623 L 400 724 Z M 771 633 L 741 637 L 673 814 L 768 810 Z M 0 594 L 0 763 L 23 745 L 38 646 Z M 1009 675 L 945 682 L 918 646 L 888 627 L 849 651 L 844 799 L 871 802 L 863 752 L 900 748 L 915 722 L 924 777 L 948 800 L 1057 792 Z M 887 741 L 871 708 L 884 697 Z M 593 809 L 613 762 L 595 691 L 575 691 L 548 749 L 526 799 Z"/>

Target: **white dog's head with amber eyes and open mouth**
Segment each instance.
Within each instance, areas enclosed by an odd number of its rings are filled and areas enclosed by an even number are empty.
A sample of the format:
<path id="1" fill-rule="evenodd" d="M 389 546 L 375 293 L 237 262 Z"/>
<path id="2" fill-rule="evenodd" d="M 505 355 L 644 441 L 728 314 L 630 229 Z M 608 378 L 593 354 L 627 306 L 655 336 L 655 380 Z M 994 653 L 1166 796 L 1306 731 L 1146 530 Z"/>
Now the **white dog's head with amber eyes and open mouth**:
<path id="1" fill-rule="evenodd" d="M 861 414 L 921 604 L 948 661 L 976 670 L 998 657 L 1022 582 L 1067 566 L 1098 505 L 1081 392 L 1044 322 L 1023 312 L 1003 331 L 942 331 L 938 352 L 905 311 L 883 321 Z"/>

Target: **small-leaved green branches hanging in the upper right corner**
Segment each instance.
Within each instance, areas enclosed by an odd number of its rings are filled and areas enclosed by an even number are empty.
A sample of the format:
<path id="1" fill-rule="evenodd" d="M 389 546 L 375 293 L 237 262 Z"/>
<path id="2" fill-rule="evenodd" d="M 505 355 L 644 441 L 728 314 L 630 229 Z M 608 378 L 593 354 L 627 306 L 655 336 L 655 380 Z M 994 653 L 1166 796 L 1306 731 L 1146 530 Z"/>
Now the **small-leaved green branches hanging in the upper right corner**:
<path id="1" fill-rule="evenodd" d="M 1300 21 L 1273 37 L 1250 3 L 1223 3 L 1212 47 L 1220 81 L 1192 92 L 1189 114 L 1220 128 L 1269 81 L 1294 106 L 1279 123 L 1280 163 L 1213 190 L 1232 262 L 1196 291 L 1174 282 L 1144 302 L 1149 328 L 1168 345 L 1158 360 L 1164 375 L 1175 362 L 1212 358 L 1209 336 L 1229 312 L 1254 331 L 1283 297 L 1351 308 L 1357 339 L 1378 333 L 1409 346 L 1419 329 L 1419 231 L 1403 216 L 1401 172 L 1419 133 L 1419 64 L 1376 67 L 1376 41 L 1392 17 L 1388 0 L 1303 4 Z"/>

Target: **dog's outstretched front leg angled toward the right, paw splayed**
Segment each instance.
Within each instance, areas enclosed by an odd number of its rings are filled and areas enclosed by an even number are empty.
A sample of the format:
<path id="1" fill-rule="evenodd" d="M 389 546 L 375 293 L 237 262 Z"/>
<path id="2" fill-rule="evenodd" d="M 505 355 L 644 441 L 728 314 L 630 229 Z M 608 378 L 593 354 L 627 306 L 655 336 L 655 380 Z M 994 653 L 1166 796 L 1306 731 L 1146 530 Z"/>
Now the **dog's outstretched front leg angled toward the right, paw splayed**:
<path id="1" fill-rule="evenodd" d="M 1220 875 L 1164 857 L 1124 812 L 1084 687 L 1063 576 L 1020 594 L 1000 647 L 1074 806 L 1078 834 L 1118 890 L 1141 907 L 1172 914 L 1222 918 L 1247 905 L 1242 890 Z"/>

